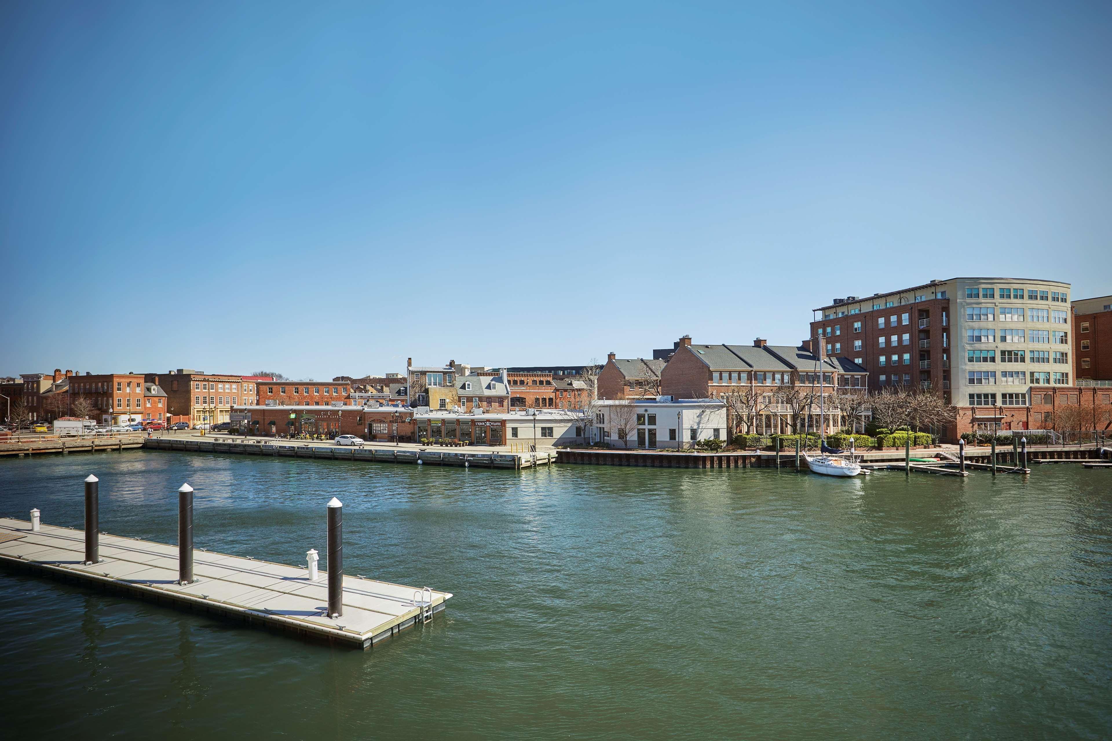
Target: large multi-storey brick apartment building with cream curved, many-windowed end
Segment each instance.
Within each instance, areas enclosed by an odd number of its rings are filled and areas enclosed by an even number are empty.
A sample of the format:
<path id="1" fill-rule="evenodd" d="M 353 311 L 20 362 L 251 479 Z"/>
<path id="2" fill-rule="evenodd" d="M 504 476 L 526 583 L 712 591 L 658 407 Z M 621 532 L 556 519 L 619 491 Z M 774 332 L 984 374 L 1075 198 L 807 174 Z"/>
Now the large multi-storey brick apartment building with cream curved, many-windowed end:
<path id="1" fill-rule="evenodd" d="M 870 388 L 942 390 L 959 409 L 961 432 L 962 420 L 984 423 L 990 413 L 1011 423 L 1014 415 L 1000 410 L 1030 407 L 1033 387 L 1073 385 L 1069 296 L 1069 283 L 1042 279 L 933 280 L 836 299 L 815 310 L 811 332 L 832 357 L 865 367 Z M 974 414 L 973 407 L 983 409 Z"/>

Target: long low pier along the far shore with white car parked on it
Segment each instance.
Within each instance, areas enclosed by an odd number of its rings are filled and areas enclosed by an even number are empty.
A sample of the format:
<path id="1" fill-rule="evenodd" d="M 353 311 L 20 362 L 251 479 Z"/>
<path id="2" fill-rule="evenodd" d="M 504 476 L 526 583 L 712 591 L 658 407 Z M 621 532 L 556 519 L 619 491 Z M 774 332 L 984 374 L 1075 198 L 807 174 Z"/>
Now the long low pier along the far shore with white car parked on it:
<path id="1" fill-rule="evenodd" d="M 370 445 L 326 445 L 298 442 L 249 442 L 238 440 L 188 440 L 180 438 L 147 438 L 142 447 L 148 450 L 183 450 L 200 453 L 229 453 L 241 455 L 272 455 L 287 458 L 317 458 L 335 461 L 374 461 L 378 463 L 417 463 L 431 465 L 459 465 L 492 469 L 524 469 L 556 462 L 556 452 L 500 453 L 414 450 L 413 448 L 373 448 Z"/>

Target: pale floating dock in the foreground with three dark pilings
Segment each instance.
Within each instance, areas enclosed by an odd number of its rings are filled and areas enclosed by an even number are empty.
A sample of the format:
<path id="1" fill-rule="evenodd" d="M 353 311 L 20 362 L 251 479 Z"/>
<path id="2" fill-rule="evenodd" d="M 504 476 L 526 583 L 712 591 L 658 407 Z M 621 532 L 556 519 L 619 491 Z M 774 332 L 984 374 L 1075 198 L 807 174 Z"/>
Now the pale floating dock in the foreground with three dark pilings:
<path id="1" fill-rule="evenodd" d="M 85 532 L 0 519 L 0 564 L 86 587 L 122 592 L 191 612 L 230 618 L 310 640 L 369 649 L 433 619 L 451 598 L 360 575 L 344 575 L 344 614 L 326 617 L 328 577 L 309 581 L 307 567 L 195 550 L 196 581 L 178 583 L 178 548 L 100 533 L 100 562 L 86 565 Z"/>

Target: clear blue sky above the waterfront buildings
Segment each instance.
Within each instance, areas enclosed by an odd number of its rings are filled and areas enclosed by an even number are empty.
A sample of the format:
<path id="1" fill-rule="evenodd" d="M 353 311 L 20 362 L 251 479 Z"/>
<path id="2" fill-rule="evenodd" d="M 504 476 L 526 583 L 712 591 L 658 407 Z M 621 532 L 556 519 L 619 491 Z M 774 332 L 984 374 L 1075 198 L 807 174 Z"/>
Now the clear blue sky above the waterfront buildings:
<path id="1" fill-rule="evenodd" d="M 796 342 L 954 274 L 1112 293 L 1110 31 L 1106 2 L 7 2 L 0 374 L 570 363 Z"/>

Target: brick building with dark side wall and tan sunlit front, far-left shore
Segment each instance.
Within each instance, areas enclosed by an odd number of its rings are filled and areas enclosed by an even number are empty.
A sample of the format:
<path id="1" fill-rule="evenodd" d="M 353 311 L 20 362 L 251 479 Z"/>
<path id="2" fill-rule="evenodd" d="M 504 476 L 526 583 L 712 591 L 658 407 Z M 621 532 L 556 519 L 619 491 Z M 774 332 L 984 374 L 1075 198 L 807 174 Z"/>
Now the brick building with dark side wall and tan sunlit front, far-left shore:
<path id="1" fill-rule="evenodd" d="M 148 373 L 148 383 L 166 392 L 167 413 L 183 417 L 190 427 L 219 424 L 231 419 L 231 408 L 255 401 L 255 381 L 231 373 L 206 373 L 179 368 L 165 374 Z"/>

